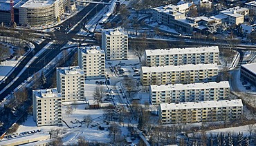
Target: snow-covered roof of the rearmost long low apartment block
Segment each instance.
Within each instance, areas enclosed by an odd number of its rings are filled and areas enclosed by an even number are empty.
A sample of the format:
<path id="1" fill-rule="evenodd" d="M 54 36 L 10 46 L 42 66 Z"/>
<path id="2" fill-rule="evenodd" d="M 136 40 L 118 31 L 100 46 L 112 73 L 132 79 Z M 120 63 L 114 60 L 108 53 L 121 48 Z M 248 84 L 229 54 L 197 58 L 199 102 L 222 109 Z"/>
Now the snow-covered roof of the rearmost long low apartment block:
<path id="1" fill-rule="evenodd" d="M 145 50 L 147 56 L 167 55 L 167 54 L 202 54 L 209 52 L 219 52 L 218 46 L 200 47 L 200 48 L 168 48 Z"/>

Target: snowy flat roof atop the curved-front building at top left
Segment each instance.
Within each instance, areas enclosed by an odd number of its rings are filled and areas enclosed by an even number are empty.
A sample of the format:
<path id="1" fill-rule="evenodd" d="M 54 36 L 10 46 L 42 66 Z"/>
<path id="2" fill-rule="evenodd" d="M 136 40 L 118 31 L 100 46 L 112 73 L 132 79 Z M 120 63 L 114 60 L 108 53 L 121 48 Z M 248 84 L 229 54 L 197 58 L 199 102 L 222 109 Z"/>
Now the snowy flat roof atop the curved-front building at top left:
<path id="1" fill-rule="evenodd" d="M 22 5 L 22 8 L 42 8 L 46 6 L 51 6 L 55 3 L 53 0 L 28 0 L 24 5 Z"/>

